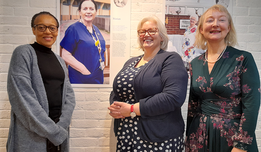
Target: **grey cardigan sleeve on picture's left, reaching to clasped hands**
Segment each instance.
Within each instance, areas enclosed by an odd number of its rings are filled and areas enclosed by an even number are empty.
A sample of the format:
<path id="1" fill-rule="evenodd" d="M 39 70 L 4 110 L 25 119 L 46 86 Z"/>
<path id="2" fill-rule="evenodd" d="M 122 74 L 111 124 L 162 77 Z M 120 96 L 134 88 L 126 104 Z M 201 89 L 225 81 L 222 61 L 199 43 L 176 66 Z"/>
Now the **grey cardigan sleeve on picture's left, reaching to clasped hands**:
<path id="1" fill-rule="evenodd" d="M 7 80 L 12 111 L 28 130 L 59 145 L 65 140 L 68 132 L 48 117 L 48 110 L 45 110 L 48 109 L 47 98 L 44 99 L 39 95 L 41 92 L 33 89 L 32 81 L 35 77 L 32 74 L 37 75 L 34 71 L 37 63 L 33 63 L 32 60 L 34 58 L 26 46 L 19 46 L 13 52 Z M 40 72 L 38 74 L 41 78 Z"/>

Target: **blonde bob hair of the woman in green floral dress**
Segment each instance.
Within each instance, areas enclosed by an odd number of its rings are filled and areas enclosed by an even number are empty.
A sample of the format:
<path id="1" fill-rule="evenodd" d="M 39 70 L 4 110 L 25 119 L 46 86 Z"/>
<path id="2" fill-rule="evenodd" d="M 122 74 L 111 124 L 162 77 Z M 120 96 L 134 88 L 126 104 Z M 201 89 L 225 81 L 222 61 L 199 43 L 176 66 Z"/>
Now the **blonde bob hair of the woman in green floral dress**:
<path id="1" fill-rule="evenodd" d="M 238 45 L 237 33 L 235 31 L 232 17 L 229 14 L 229 12 L 227 11 L 227 9 L 224 6 L 217 4 L 217 5 L 211 6 L 208 10 L 206 10 L 206 12 L 208 12 L 208 11 L 219 11 L 219 12 L 224 12 L 227 14 L 230 31 L 227 33 L 227 35 L 224 39 L 225 43 L 227 46 Z M 204 37 L 203 34 L 200 33 L 200 29 L 203 29 L 204 17 L 205 17 L 206 12 L 204 12 L 203 15 L 200 17 L 200 21 L 197 26 L 196 40 L 195 40 L 195 46 L 197 46 L 197 48 L 201 48 L 203 50 L 206 50 L 208 48 L 208 46 L 207 46 L 208 44 L 206 43 L 207 42 L 206 38 Z"/>

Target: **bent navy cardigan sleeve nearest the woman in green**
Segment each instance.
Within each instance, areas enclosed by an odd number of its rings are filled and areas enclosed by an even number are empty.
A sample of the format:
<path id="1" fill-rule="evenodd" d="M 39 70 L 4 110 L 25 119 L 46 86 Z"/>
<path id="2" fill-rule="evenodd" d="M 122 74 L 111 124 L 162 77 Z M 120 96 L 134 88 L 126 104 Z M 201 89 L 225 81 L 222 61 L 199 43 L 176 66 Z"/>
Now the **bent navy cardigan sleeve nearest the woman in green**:
<path id="1" fill-rule="evenodd" d="M 156 60 L 154 60 L 154 62 L 156 62 Z M 146 98 L 140 98 L 142 95 L 135 94 L 136 97 L 139 96 L 137 98 L 139 98 L 142 118 L 178 110 L 186 98 L 188 73 L 180 56 L 178 54 L 172 54 L 159 64 L 160 65 L 153 64 L 149 67 L 151 73 L 139 74 L 142 79 L 140 79 L 140 84 L 137 86 L 139 88 L 135 91 L 139 92 L 139 89 L 143 91 L 147 89 L 148 91 L 145 92 L 148 95 L 151 94 Z M 153 68 L 154 70 L 151 70 Z M 155 79 L 159 77 L 159 75 L 160 78 Z M 156 93 L 156 91 L 158 91 L 158 93 Z"/>

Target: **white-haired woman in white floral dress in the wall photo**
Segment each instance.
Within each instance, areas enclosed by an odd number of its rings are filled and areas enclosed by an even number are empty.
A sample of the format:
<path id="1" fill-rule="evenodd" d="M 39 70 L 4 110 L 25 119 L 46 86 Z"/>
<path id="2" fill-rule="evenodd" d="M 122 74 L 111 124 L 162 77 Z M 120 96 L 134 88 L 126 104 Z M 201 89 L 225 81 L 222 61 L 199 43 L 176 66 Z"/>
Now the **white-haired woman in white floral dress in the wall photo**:
<path id="1" fill-rule="evenodd" d="M 192 14 L 190 17 L 190 26 L 186 28 L 184 33 L 184 42 L 182 45 L 182 54 L 181 58 L 184 62 L 184 65 L 187 69 L 189 69 L 189 63 L 194 59 L 196 56 L 195 54 L 195 46 L 193 45 L 195 42 L 195 36 L 197 31 L 197 14 Z"/>

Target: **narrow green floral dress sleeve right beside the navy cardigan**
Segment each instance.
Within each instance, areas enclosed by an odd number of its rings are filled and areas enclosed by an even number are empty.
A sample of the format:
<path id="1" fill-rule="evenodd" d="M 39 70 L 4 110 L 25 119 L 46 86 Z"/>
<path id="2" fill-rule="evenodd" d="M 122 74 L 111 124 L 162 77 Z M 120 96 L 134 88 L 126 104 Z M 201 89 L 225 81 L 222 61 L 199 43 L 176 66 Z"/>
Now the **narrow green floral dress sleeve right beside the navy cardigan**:
<path id="1" fill-rule="evenodd" d="M 198 105 L 198 97 L 196 97 L 193 93 L 193 73 L 192 73 L 192 64 L 190 64 L 190 89 L 189 89 L 189 103 L 188 103 L 188 115 L 187 115 L 187 125 L 186 125 L 186 136 L 189 132 L 190 124 L 193 120 L 194 115 L 197 111 L 197 105 Z"/>

